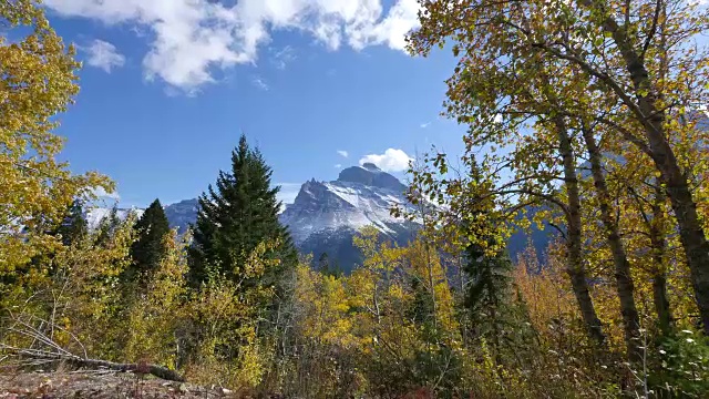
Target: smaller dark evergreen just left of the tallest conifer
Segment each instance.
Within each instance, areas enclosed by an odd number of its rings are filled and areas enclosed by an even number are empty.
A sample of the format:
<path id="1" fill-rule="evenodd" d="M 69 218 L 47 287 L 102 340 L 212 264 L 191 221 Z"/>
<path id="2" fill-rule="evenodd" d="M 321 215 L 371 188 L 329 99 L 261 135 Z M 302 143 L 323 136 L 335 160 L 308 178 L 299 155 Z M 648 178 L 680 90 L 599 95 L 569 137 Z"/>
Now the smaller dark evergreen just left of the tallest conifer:
<path id="1" fill-rule="evenodd" d="M 160 200 L 153 201 L 134 228 L 137 237 L 131 246 L 133 265 L 127 270 L 131 278 L 156 270 L 165 257 L 164 241 L 169 233 L 169 223 Z"/>

